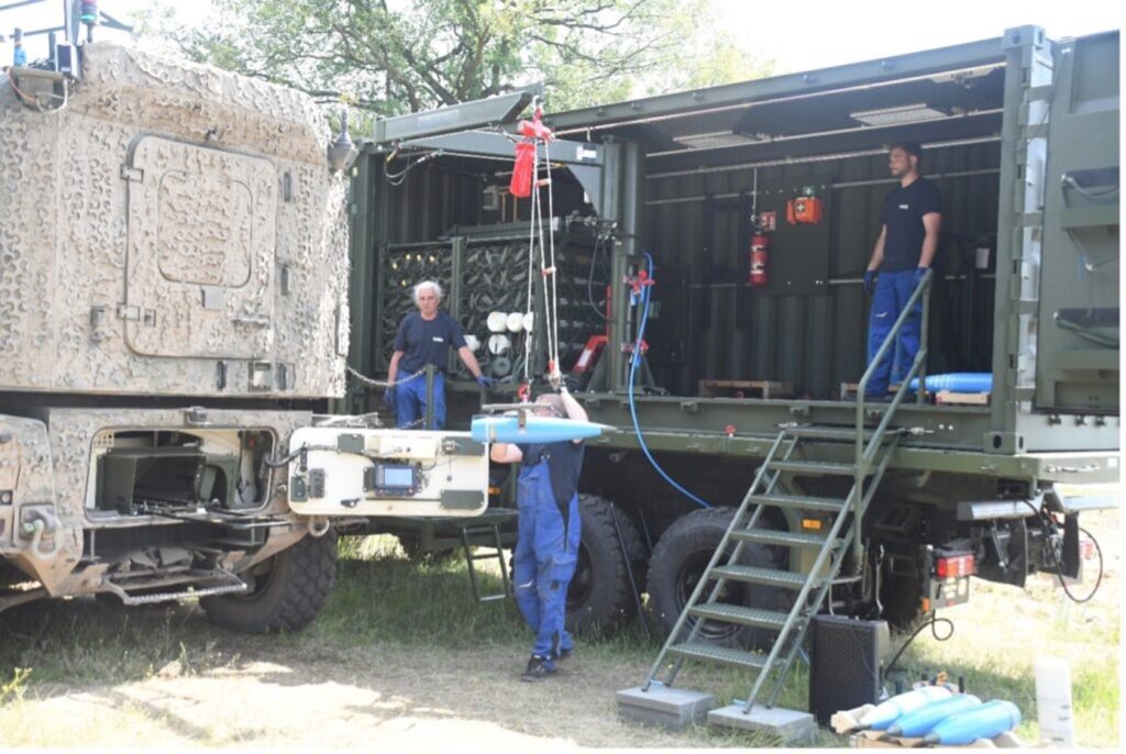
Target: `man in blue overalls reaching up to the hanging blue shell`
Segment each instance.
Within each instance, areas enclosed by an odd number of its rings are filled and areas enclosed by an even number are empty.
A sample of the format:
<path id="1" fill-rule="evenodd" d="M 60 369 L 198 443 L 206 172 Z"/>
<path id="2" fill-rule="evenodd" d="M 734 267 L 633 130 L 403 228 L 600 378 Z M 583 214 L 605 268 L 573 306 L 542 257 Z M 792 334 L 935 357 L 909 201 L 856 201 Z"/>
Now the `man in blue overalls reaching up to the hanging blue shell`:
<path id="1" fill-rule="evenodd" d="M 558 382 L 557 379 L 554 382 Z M 587 412 L 565 386 L 558 395 L 540 395 L 537 415 L 587 421 Z M 544 445 L 494 443 L 498 464 L 520 464 L 517 506 L 520 511 L 512 580 L 516 604 L 536 632 L 531 658 L 520 676 L 539 681 L 557 672 L 555 662 L 574 648 L 564 626 L 566 590 L 579 555 L 579 475 L 582 440 Z"/>

